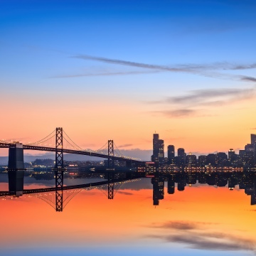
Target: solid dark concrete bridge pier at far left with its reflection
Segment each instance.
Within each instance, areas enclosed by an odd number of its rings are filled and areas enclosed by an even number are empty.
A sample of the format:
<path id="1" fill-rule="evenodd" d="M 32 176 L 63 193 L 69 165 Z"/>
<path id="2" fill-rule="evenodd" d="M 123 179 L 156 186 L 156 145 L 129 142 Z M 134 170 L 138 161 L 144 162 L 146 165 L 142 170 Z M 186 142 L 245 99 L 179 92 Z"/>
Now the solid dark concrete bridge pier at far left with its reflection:
<path id="1" fill-rule="evenodd" d="M 15 196 L 22 196 L 24 184 L 23 144 L 15 142 L 9 147 L 8 161 L 9 191 Z"/>

